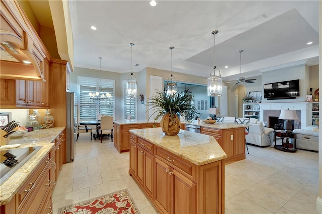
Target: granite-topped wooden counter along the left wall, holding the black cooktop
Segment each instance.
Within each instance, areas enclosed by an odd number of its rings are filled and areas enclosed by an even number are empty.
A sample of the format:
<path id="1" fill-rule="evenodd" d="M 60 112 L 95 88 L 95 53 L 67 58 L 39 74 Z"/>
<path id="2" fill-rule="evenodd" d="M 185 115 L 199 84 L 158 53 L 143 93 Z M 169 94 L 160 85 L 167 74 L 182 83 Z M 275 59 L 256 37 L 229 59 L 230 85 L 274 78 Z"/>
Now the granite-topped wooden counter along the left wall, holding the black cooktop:
<path id="1" fill-rule="evenodd" d="M 39 147 L 20 168 L 0 185 L 0 213 L 49 213 L 51 194 L 62 164 L 65 127 L 35 130 L 23 138 L 12 139 L 17 148 Z M 31 144 L 36 141 L 35 144 Z"/>

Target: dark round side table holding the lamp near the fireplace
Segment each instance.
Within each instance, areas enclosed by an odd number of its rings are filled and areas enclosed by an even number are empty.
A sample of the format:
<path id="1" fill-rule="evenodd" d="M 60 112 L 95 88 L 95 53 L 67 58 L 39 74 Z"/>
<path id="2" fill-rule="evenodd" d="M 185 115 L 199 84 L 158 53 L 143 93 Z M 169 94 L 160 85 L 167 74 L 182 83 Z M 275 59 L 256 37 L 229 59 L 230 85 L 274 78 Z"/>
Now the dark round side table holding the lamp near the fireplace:
<path id="1" fill-rule="evenodd" d="M 276 137 L 280 137 L 282 139 L 282 145 L 276 145 Z M 284 138 L 286 138 L 285 143 Z M 289 139 L 294 139 L 294 146 L 289 142 Z M 292 131 L 275 130 L 274 148 L 284 152 L 296 152 L 296 133 L 293 133 Z"/>

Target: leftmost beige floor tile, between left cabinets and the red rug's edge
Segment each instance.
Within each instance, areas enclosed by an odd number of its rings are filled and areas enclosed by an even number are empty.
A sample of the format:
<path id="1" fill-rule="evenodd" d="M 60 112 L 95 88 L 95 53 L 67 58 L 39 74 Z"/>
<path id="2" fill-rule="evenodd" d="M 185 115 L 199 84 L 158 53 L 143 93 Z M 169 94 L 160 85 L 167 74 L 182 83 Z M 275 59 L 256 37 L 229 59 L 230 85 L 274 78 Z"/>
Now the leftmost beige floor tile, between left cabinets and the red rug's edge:
<path id="1" fill-rule="evenodd" d="M 58 213 L 59 208 L 90 199 L 89 188 L 56 195 L 53 199 L 53 213 Z"/>

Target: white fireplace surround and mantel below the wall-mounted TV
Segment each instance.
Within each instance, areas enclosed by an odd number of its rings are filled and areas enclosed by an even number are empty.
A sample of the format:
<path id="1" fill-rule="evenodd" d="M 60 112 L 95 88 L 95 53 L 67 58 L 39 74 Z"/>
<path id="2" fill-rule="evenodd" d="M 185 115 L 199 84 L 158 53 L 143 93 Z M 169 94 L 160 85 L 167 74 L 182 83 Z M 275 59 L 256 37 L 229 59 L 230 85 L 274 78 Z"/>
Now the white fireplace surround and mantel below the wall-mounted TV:
<path id="1" fill-rule="evenodd" d="M 301 128 L 311 125 L 312 103 L 311 102 L 277 102 L 277 103 L 260 103 L 260 120 L 268 121 L 268 117 L 264 118 L 264 110 L 300 110 L 298 121 Z M 275 116 L 275 115 L 274 115 Z"/>

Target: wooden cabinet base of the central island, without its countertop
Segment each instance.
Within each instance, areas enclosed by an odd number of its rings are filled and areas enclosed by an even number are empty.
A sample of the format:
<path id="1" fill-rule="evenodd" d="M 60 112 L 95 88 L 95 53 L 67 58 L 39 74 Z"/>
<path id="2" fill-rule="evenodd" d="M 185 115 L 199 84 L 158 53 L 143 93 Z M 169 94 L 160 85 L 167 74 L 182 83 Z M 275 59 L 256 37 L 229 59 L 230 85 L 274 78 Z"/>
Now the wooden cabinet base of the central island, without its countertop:
<path id="1" fill-rule="evenodd" d="M 133 133 L 130 142 L 129 174 L 161 213 L 224 213 L 223 160 L 195 165 Z"/>

